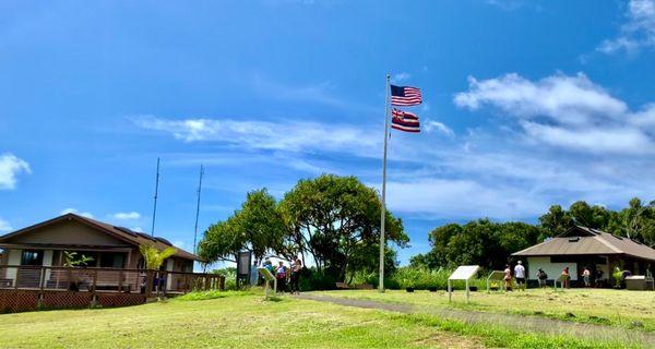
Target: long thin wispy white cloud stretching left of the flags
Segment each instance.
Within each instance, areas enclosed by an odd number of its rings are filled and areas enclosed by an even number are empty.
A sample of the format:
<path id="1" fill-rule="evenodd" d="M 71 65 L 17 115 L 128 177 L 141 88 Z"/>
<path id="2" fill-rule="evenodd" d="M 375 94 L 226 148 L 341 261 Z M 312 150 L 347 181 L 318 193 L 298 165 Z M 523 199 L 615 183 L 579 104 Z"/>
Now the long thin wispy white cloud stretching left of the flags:
<path id="1" fill-rule="evenodd" d="M 235 121 L 234 119 L 171 120 L 134 118 L 136 125 L 172 134 L 184 142 L 222 142 L 246 149 L 293 153 L 378 149 L 379 136 L 353 125 L 305 121 Z"/>

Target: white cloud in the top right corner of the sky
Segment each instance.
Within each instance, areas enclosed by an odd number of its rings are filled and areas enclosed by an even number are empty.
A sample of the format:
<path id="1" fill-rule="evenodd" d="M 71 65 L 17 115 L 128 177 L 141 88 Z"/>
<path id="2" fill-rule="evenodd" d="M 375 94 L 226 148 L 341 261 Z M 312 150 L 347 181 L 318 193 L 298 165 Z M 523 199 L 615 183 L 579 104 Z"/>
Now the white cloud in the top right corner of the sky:
<path id="1" fill-rule="evenodd" d="M 630 0 L 626 17 L 628 22 L 621 26 L 621 33 L 603 41 L 598 51 L 634 53 L 643 47 L 655 47 L 655 0 Z"/>

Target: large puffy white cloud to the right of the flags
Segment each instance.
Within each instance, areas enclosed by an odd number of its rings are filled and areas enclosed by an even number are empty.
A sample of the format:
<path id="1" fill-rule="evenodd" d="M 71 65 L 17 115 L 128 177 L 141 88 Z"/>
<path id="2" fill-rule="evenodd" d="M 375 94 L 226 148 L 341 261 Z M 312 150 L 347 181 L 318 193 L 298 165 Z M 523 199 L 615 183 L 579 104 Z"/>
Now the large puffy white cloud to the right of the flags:
<path id="1" fill-rule="evenodd" d="M 633 112 L 583 73 L 534 82 L 517 74 L 469 77 L 468 92 L 456 94 L 454 103 L 472 110 L 492 106 L 519 119 L 533 142 L 596 154 L 655 153 L 653 136 L 644 128 L 655 124 L 655 107 Z"/>

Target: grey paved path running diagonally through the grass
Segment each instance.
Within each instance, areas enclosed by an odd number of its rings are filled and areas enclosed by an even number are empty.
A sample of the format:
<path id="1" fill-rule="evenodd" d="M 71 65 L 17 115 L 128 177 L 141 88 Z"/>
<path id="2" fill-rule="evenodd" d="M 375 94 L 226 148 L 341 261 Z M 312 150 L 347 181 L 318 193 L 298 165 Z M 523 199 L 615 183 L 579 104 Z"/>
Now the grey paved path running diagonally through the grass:
<path id="1" fill-rule="evenodd" d="M 526 316 L 503 313 L 485 313 L 458 309 L 443 309 L 437 306 L 417 308 L 406 303 L 384 303 L 364 299 L 350 299 L 341 297 L 320 296 L 315 293 L 300 293 L 300 299 L 329 302 L 345 306 L 364 309 L 377 309 L 398 312 L 404 314 L 428 314 L 438 317 L 446 317 L 464 321 L 473 324 L 495 324 L 507 326 L 512 329 L 524 332 L 537 332 L 549 335 L 570 335 L 576 338 L 620 340 L 624 344 L 643 345 L 646 348 L 655 348 L 655 334 L 638 329 L 628 329 L 616 326 L 581 324 L 541 316 Z"/>

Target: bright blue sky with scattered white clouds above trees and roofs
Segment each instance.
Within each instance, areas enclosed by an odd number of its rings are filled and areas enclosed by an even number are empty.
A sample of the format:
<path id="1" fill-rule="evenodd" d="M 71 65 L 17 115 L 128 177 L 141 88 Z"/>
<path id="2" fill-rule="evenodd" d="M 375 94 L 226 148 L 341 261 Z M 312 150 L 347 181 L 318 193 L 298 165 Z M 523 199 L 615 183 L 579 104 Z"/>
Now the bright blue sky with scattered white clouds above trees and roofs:
<path id="1" fill-rule="evenodd" d="M 449 221 L 653 200 L 655 3 L 2 1 L 0 231 L 64 210 L 191 249 L 249 190 L 379 186 L 384 76 L 419 86 L 388 204 L 412 249 Z"/>

